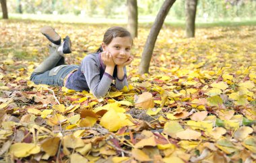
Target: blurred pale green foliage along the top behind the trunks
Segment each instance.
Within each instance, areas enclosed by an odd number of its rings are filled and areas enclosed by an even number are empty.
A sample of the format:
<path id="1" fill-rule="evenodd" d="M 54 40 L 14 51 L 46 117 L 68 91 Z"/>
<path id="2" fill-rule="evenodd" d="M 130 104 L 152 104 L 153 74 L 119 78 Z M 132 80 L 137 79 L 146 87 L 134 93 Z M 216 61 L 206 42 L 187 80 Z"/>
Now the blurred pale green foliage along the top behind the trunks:
<path id="1" fill-rule="evenodd" d="M 139 15 L 156 15 L 163 0 L 138 0 Z M 126 1 L 107 0 L 16 0 L 7 1 L 9 13 L 34 14 L 73 14 L 84 17 L 126 17 Z M 176 1 L 168 14 L 174 19 L 185 19 L 185 0 Z M 197 5 L 197 19 L 214 21 L 216 19 L 255 18 L 255 0 L 199 0 Z"/>

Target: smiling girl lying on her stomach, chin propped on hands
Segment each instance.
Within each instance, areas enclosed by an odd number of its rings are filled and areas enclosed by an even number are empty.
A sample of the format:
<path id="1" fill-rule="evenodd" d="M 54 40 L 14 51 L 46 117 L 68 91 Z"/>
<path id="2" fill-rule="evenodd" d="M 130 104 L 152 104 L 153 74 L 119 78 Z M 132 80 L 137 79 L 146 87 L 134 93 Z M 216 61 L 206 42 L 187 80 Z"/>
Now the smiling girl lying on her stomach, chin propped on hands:
<path id="1" fill-rule="evenodd" d="M 30 76 L 36 85 L 59 85 L 75 91 L 90 90 L 96 98 L 108 93 L 113 80 L 118 90 L 128 86 L 125 66 L 133 60 L 130 54 L 133 40 L 125 28 L 109 28 L 98 51 L 86 56 L 80 65 L 64 64 L 65 54 L 71 53 L 68 36 L 61 43 L 61 37 L 53 28 L 46 26 L 41 32 L 52 44 L 49 47 L 50 56 Z"/>

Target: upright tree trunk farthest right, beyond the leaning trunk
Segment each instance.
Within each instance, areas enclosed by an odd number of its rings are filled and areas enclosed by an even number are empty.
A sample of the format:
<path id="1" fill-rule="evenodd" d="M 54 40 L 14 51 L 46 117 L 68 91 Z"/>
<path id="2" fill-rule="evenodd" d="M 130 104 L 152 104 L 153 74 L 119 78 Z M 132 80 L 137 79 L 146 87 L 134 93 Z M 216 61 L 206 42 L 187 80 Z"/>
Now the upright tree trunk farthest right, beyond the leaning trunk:
<path id="1" fill-rule="evenodd" d="M 195 14 L 197 12 L 197 0 L 185 1 L 186 12 L 186 37 L 195 37 Z"/>

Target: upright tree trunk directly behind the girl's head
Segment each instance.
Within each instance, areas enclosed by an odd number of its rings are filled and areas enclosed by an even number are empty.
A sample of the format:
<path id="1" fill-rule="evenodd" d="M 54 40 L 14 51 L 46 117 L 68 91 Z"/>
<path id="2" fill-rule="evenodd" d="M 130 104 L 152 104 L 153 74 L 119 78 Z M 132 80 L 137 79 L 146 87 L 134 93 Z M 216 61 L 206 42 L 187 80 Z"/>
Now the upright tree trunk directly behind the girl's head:
<path id="1" fill-rule="evenodd" d="M 137 28 L 138 28 L 137 0 L 127 0 L 127 9 L 128 9 L 127 30 L 131 33 L 131 36 L 133 38 L 137 38 Z"/>

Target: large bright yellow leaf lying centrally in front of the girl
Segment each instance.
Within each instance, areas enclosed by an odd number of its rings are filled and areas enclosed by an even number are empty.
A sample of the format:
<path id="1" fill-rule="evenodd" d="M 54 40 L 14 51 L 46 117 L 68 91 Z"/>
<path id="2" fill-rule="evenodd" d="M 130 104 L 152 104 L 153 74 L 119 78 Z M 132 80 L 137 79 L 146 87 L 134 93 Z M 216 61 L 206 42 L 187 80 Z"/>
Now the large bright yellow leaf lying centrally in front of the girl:
<path id="1" fill-rule="evenodd" d="M 111 109 L 110 111 L 106 112 L 100 119 L 100 125 L 109 131 L 117 131 L 122 127 L 122 122 L 119 115 L 113 109 Z"/>

